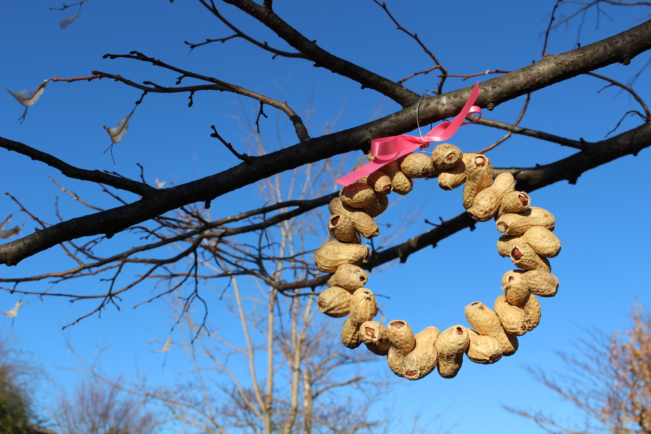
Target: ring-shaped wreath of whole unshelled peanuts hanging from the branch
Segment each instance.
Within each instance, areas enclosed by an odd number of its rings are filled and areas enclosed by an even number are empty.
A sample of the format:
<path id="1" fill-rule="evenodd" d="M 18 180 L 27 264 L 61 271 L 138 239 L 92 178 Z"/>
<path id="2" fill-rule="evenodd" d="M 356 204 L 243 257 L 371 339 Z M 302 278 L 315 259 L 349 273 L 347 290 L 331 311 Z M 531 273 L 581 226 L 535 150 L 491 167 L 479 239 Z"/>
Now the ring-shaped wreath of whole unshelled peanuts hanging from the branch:
<path id="1" fill-rule="evenodd" d="M 472 329 L 453 325 L 441 332 L 430 326 L 414 334 L 402 319 L 389 321 L 386 327 L 373 321 L 378 303 L 365 288 L 368 275 L 359 267 L 370 256 L 361 236 L 380 234 L 373 217 L 387 209 L 389 193 L 406 195 L 413 189 L 412 178 L 428 176 L 438 176 L 444 190 L 464 185 L 465 210 L 479 222 L 495 219 L 501 233 L 497 252 L 518 267 L 502 277 L 504 294 L 495 299 L 493 310 L 479 301 L 465 306 Z M 341 329 L 342 344 L 351 349 L 365 344 L 372 353 L 387 356 L 393 373 L 410 380 L 421 379 L 434 368 L 441 377 L 452 378 L 461 369 L 464 354 L 481 364 L 513 355 L 518 336 L 540 323 L 536 295 L 556 295 L 559 280 L 551 274 L 547 258 L 561 251 L 561 241 L 552 232 L 554 216 L 531 206 L 529 195 L 515 187 L 510 173 L 493 180 L 493 167 L 484 154 L 464 154 L 449 143 L 436 146 L 432 157 L 412 152 L 343 187 L 328 207 L 328 230 L 334 240 L 314 252 L 317 269 L 333 273 L 329 288 L 318 296 L 319 310 L 332 318 L 348 316 Z"/>

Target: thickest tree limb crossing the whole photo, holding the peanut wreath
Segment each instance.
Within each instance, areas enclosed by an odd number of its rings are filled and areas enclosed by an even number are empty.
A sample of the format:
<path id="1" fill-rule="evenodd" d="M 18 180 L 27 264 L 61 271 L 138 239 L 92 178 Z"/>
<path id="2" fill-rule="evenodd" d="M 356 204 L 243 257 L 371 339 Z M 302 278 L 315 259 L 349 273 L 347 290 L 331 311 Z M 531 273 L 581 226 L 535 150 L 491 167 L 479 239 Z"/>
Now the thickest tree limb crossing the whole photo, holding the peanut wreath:
<path id="1" fill-rule="evenodd" d="M 562 54 L 547 55 L 540 62 L 484 81 L 480 85 L 481 94 L 476 104 L 480 107 L 493 108 L 523 94 L 607 64 L 615 62 L 628 64 L 630 59 L 650 48 L 651 21 L 646 21 L 633 29 L 594 44 Z M 471 89 L 472 87 L 466 87 L 423 98 L 420 108 L 422 124 L 456 115 L 467 100 Z M 362 126 L 309 139 L 301 144 L 271 152 L 256 158 L 253 163 L 242 163 L 200 180 L 156 190 L 152 195 L 132 204 L 55 224 L 36 234 L 1 245 L 0 264 L 16 265 L 28 256 L 77 237 L 98 234 L 107 234 L 110 237 L 133 224 L 147 221 L 180 206 L 204 202 L 284 170 L 359 149 L 366 146 L 370 139 L 407 133 L 416 127 L 416 105 L 416 103 L 409 105 L 392 115 Z M 637 142 L 637 139 L 634 141 Z"/>

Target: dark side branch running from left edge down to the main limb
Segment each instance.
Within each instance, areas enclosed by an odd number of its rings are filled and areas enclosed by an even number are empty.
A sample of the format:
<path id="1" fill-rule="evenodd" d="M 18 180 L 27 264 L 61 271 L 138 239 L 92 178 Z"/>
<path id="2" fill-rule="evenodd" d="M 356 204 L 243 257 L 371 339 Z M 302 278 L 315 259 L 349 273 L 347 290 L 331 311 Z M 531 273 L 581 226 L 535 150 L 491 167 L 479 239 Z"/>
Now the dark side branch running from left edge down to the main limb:
<path id="1" fill-rule="evenodd" d="M 64 161 L 61 161 L 57 157 L 53 157 L 49 154 L 46 154 L 45 152 L 31 148 L 30 146 L 27 146 L 21 142 L 5 139 L 4 137 L 0 137 L 0 146 L 7 150 L 18 152 L 18 154 L 23 154 L 24 156 L 30 157 L 33 160 L 46 163 L 46 165 L 55 169 L 61 170 L 61 173 L 65 176 L 68 176 L 68 178 L 90 182 L 101 182 L 106 185 L 111 185 L 111 187 L 130 191 L 143 197 L 148 196 L 156 191 L 156 189 L 150 185 L 136 182 L 128 178 L 121 178 L 120 176 L 114 176 L 100 172 L 99 170 L 79 169 L 79 167 L 71 166 Z"/>

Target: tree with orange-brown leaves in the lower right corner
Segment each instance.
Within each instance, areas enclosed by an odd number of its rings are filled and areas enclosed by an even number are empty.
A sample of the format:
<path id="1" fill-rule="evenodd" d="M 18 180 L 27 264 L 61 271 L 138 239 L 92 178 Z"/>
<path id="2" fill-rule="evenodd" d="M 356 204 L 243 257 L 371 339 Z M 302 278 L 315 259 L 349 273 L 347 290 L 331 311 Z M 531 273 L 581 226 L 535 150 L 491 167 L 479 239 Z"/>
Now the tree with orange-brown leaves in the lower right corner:
<path id="1" fill-rule="evenodd" d="M 542 412 L 507 409 L 553 434 L 651 433 L 651 316 L 643 306 L 633 306 L 630 318 L 630 329 L 591 332 L 591 339 L 578 346 L 579 355 L 559 353 L 566 371 L 531 370 L 585 415 L 585 427 L 563 426 Z"/>

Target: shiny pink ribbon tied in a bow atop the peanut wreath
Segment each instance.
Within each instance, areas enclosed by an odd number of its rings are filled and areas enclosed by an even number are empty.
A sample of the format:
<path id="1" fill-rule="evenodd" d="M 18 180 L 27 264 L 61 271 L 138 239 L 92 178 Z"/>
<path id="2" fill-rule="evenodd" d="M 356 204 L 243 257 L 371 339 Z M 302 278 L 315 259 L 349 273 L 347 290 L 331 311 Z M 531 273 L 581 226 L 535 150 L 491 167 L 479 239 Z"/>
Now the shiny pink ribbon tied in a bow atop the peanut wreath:
<path id="1" fill-rule="evenodd" d="M 479 82 L 475 83 L 475 88 L 471 92 L 468 100 L 465 102 L 464 108 L 461 112 L 454 116 L 453 120 L 446 120 L 445 122 L 438 124 L 426 135 L 413 136 L 413 135 L 395 135 L 391 137 L 382 137 L 381 139 L 373 139 L 370 141 L 370 154 L 376 157 L 373 161 L 369 161 L 367 164 L 363 165 L 357 170 L 353 170 L 349 174 L 342 176 L 335 183 L 341 185 L 350 185 L 352 183 L 361 180 L 365 176 L 368 176 L 380 169 L 384 165 L 391 163 L 391 161 L 396 158 L 400 158 L 409 152 L 412 152 L 419 146 L 421 148 L 427 148 L 430 146 L 430 142 L 441 142 L 449 139 L 456 133 L 456 130 L 460 126 L 472 124 L 477 122 L 482 116 L 482 109 L 473 105 L 475 100 L 479 96 Z M 464 122 L 465 116 L 467 115 L 479 115 L 479 117 L 473 122 Z"/>

